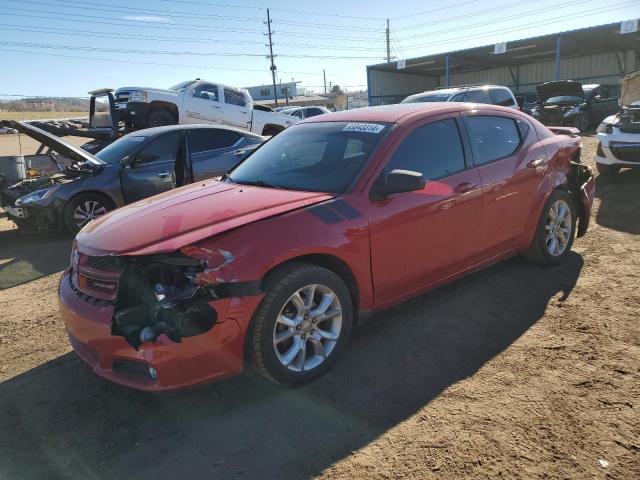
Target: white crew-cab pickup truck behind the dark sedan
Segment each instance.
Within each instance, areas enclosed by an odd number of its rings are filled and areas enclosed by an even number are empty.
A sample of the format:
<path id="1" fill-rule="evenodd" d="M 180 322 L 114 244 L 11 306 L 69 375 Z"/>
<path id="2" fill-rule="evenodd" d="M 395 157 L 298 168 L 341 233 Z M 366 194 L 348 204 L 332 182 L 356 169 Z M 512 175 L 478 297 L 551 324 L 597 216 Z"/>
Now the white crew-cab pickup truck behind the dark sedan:
<path id="1" fill-rule="evenodd" d="M 217 123 L 275 135 L 296 122 L 256 105 L 249 92 L 206 80 L 188 80 L 163 90 L 123 87 L 115 92 L 118 120 L 135 128 Z"/>

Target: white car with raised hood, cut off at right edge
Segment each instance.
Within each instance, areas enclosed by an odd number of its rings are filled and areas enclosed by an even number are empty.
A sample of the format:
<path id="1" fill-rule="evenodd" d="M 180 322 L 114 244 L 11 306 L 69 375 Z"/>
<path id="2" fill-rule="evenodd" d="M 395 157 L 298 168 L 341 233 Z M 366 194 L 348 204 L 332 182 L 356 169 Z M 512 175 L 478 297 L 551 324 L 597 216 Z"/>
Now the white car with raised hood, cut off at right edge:
<path id="1" fill-rule="evenodd" d="M 620 105 L 620 112 L 605 118 L 596 129 L 595 161 L 602 174 L 640 167 L 640 70 L 622 79 Z"/>

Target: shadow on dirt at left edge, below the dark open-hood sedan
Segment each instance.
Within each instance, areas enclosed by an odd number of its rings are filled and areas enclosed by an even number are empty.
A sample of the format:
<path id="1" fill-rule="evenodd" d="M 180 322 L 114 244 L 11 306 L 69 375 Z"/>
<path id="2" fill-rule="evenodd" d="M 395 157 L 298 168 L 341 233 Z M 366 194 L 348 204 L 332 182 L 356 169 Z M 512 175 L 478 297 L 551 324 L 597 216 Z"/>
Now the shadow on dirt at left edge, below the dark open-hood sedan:
<path id="1" fill-rule="evenodd" d="M 63 232 L 21 234 L 15 229 L 0 230 L 0 290 L 64 270 L 72 242 L 72 237 Z"/>

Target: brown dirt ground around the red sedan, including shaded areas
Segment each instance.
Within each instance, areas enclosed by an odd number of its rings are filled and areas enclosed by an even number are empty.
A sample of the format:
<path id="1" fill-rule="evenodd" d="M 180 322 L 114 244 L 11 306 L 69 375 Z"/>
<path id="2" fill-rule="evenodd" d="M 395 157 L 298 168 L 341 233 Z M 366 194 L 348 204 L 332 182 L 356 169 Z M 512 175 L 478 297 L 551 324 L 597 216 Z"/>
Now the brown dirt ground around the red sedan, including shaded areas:
<path id="1" fill-rule="evenodd" d="M 562 265 L 514 258 L 379 313 L 295 390 L 120 388 L 70 352 L 57 273 L 0 291 L 0 478 L 640 478 L 639 185 L 598 178 Z M 0 242 L 0 276 L 48 248 Z"/>

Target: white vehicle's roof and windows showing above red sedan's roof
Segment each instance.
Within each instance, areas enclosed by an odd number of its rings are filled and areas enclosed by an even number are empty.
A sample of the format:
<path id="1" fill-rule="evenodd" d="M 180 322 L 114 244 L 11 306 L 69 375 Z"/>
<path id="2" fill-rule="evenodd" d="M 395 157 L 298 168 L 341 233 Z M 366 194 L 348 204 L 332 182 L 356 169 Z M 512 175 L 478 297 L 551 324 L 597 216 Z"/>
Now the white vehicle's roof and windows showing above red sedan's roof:
<path id="1" fill-rule="evenodd" d="M 518 108 L 513 92 L 502 85 L 461 85 L 409 95 L 400 103 L 471 102 Z"/>

